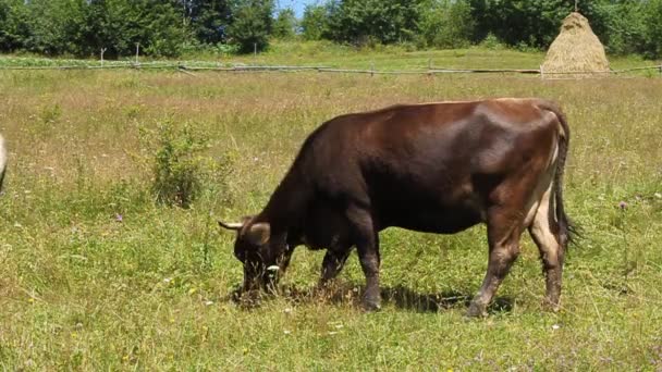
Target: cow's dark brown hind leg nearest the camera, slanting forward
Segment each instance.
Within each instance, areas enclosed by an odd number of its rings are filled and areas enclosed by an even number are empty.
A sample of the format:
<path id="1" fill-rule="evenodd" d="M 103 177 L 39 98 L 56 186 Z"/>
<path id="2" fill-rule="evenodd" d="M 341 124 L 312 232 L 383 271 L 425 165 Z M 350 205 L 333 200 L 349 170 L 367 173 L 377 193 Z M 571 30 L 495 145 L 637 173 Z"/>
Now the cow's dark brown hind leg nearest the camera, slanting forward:
<path id="1" fill-rule="evenodd" d="M 503 208 L 497 208 L 488 215 L 490 245 L 488 271 L 480 290 L 471 300 L 467 312 L 469 317 L 487 315 L 488 305 L 519 256 L 519 236 L 523 227 L 518 215 L 520 214 L 511 213 Z"/>

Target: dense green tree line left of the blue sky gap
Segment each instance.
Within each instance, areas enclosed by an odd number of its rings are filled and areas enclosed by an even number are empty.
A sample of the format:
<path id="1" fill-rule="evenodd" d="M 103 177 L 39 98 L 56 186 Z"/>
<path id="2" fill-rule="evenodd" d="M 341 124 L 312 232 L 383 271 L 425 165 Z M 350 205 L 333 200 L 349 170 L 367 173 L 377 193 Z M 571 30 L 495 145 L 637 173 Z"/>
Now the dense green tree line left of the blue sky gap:
<path id="1" fill-rule="evenodd" d="M 231 40 L 262 49 L 270 0 L 0 0 L 0 51 L 42 54 L 179 55 L 185 44 Z"/>

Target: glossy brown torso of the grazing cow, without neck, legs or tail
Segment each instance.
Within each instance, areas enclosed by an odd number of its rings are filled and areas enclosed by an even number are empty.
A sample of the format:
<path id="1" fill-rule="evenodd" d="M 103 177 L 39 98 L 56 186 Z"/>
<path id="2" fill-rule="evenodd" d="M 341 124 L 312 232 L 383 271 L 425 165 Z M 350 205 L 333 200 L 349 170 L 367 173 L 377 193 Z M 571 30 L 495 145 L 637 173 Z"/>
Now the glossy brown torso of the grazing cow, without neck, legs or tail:
<path id="1" fill-rule="evenodd" d="M 381 226 L 454 233 L 485 220 L 492 187 L 553 146 L 537 100 L 395 106 L 339 116 L 310 140 L 304 173 L 338 208 Z"/>

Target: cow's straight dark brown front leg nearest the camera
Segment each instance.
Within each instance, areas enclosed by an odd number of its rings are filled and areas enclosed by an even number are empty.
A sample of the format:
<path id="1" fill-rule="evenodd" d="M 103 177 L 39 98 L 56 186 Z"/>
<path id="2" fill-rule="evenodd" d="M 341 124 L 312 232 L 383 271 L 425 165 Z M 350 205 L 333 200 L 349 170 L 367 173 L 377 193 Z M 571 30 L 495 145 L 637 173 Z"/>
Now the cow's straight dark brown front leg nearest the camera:
<path id="1" fill-rule="evenodd" d="M 347 210 L 347 219 L 352 223 L 360 268 L 366 275 L 364 308 L 368 311 L 379 310 L 381 309 L 381 296 L 379 293 L 379 237 L 372 225 L 372 218 L 364 209 L 350 208 Z"/>

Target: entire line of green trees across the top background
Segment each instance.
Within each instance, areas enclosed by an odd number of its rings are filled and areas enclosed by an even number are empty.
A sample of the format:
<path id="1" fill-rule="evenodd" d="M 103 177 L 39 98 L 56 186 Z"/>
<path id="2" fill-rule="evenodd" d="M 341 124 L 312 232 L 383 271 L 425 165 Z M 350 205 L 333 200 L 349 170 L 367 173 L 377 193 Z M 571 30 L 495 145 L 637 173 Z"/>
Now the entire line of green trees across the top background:
<path id="1" fill-rule="evenodd" d="M 662 55 L 662 0 L 579 1 L 611 54 Z M 458 48 L 490 42 L 549 47 L 574 0 L 323 0 L 277 11 L 273 0 L 0 0 L 0 52 L 175 57 L 222 45 L 265 50 L 269 40 L 331 40 Z M 301 27 L 299 27 L 301 26 Z M 226 48 L 230 46 L 230 48 Z"/>

